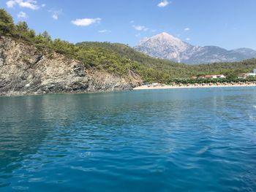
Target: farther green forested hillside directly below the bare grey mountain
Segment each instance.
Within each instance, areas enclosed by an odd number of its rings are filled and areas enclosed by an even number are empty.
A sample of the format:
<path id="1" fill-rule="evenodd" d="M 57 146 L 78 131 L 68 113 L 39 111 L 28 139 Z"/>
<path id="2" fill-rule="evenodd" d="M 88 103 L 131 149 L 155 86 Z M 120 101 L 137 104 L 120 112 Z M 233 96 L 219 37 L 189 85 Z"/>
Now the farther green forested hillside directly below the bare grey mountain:
<path id="1" fill-rule="evenodd" d="M 203 74 L 225 74 L 227 77 L 235 78 L 237 74 L 243 72 L 252 72 L 256 67 L 256 59 L 248 59 L 241 62 L 232 63 L 214 63 L 214 64 L 200 64 L 187 65 L 178 64 L 165 59 L 152 58 L 146 54 L 140 53 L 137 50 L 120 43 L 110 42 L 81 42 L 77 45 L 83 47 L 102 47 L 111 50 L 118 55 L 125 56 L 131 61 L 138 62 L 142 66 L 147 66 L 152 69 L 164 73 L 169 78 L 183 78 L 199 76 Z"/>

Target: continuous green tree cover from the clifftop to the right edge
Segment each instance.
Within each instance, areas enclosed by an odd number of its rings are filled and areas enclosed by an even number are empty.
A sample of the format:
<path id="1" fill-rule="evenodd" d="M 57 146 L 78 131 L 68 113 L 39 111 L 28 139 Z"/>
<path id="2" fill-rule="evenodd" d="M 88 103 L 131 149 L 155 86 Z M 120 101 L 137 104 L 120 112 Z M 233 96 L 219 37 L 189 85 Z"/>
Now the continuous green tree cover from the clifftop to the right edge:
<path id="1" fill-rule="evenodd" d="M 34 45 L 44 53 L 56 52 L 77 59 L 87 68 L 105 69 L 122 77 L 133 72 L 139 74 L 145 82 L 202 82 L 205 80 L 189 78 L 204 74 L 225 74 L 227 80 L 232 81 L 236 80 L 239 73 L 252 72 L 256 68 L 256 59 L 235 63 L 187 65 L 151 58 L 118 43 L 82 42 L 74 45 L 61 39 L 52 39 L 47 31 L 36 34 L 24 21 L 13 23 L 12 16 L 4 9 L 0 9 L 0 35 Z"/>

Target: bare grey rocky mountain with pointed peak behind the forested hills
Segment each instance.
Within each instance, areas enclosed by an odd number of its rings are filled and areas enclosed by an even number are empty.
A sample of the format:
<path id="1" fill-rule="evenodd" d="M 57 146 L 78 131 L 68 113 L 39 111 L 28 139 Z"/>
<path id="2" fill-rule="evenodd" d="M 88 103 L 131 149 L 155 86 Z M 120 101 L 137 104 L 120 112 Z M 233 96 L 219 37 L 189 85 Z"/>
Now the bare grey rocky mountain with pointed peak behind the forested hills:
<path id="1" fill-rule="evenodd" d="M 141 39 L 135 49 L 154 58 L 165 58 L 185 64 L 234 62 L 256 57 L 256 50 L 248 48 L 225 50 L 217 46 L 194 46 L 165 32 Z"/>

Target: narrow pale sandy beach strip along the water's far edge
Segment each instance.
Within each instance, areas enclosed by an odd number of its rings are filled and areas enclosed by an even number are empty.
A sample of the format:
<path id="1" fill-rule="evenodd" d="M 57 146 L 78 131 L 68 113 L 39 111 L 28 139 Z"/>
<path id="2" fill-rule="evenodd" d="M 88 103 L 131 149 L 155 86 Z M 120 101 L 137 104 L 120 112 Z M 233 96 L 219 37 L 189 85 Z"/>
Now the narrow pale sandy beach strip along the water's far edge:
<path id="1" fill-rule="evenodd" d="M 256 87 L 256 84 L 235 84 L 235 85 L 142 85 L 133 90 L 151 90 L 151 89 L 181 89 L 181 88 L 242 88 L 242 87 Z"/>

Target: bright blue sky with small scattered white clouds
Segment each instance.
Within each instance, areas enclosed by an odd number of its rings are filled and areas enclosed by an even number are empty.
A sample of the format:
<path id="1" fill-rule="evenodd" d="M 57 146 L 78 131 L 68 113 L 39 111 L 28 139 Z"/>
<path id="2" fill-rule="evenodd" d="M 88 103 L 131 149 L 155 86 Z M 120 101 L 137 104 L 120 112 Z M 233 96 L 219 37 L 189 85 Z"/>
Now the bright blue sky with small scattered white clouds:
<path id="1" fill-rule="evenodd" d="M 192 45 L 256 50 L 256 0 L 0 0 L 15 23 L 69 42 L 120 42 L 167 32 Z"/>

